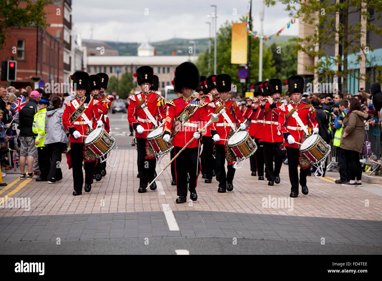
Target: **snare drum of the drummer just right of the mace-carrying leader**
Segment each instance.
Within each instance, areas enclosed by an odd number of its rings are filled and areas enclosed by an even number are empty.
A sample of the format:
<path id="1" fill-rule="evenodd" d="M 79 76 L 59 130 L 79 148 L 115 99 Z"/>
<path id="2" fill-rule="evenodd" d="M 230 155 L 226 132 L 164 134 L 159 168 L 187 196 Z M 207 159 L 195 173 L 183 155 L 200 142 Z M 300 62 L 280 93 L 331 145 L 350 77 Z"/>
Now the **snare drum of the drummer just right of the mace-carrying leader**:
<path id="1" fill-rule="evenodd" d="M 227 144 L 238 160 L 244 160 L 249 156 L 252 156 L 257 150 L 257 145 L 249 136 L 247 130 L 237 132 L 235 135 L 231 136 L 228 139 Z"/>

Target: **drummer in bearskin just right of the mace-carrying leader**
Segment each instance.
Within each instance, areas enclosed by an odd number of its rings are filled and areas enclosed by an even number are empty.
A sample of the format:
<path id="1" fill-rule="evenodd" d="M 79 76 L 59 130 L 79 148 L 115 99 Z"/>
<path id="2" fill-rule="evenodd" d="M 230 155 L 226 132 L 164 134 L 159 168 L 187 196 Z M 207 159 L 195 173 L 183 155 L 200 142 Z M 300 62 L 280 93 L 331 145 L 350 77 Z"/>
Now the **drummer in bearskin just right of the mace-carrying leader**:
<path id="1" fill-rule="evenodd" d="M 211 134 L 214 140 L 216 152 L 216 180 L 219 182 L 217 192 L 224 193 L 226 190 L 233 190 L 233 177 L 235 169 L 233 164 L 236 162 L 236 157 L 233 152 L 227 147 L 227 139 L 236 131 L 235 122 L 239 125 L 240 130 L 245 130 L 243 115 L 240 111 L 240 102 L 235 102 L 228 98 L 231 91 L 231 76 L 228 74 L 219 74 L 213 77 L 216 83 L 216 89 L 219 93 L 219 99 L 210 102 L 208 105 L 214 113 L 225 109 L 219 116 L 219 121 L 212 123 Z M 223 140 L 220 140 L 220 139 Z M 227 159 L 227 174 L 225 173 L 225 160 Z"/>

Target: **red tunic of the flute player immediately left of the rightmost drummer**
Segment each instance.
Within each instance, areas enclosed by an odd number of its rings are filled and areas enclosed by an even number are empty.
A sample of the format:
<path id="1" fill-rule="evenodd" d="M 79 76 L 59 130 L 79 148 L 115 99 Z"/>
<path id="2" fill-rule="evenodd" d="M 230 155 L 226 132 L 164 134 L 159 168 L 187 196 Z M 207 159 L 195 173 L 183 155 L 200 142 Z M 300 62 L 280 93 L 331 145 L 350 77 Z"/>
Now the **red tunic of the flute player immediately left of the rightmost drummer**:
<path id="1" fill-rule="evenodd" d="M 280 114 L 280 109 L 278 107 L 281 103 L 272 103 L 269 106 L 267 102 L 265 107 L 260 107 L 260 110 L 257 110 L 257 119 L 265 120 L 264 122 L 264 133 L 262 136 L 263 141 L 267 141 L 269 143 L 281 143 L 284 140 L 284 137 L 281 132 L 278 131 L 280 126 L 278 125 L 278 115 Z"/>

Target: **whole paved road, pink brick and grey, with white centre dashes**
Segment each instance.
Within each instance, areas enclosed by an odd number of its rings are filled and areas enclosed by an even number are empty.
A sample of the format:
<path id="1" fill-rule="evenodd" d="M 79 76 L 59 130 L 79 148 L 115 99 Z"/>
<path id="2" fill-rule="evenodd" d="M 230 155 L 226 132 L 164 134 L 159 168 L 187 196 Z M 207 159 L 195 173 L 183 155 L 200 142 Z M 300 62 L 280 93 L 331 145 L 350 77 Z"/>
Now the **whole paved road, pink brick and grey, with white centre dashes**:
<path id="1" fill-rule="evenodd" d="M 236 171 L 233 192 L 217 193 L 215 179 L 205 184 L 199 177 L 198 200 L 175 204 L 169 169 L 157 180 L 156 191 L 137 193 L 127 115 L 109 117 L 118 164 L 90 193 L 71 195 L 65 155 L 59 184 L 19 180 L 19 171 L 7 175 L 9 184 L 0 195 L 29 198 L 30 204 L 0 208 L 0 246 L 6 253 L 382 253 L 380 185 L 342 187 L 334 184 L 338 175 L 329 172 L 309 178 L 309 195 L 292 201 L 287 166 L 282 182 L 269 187 L 251 177 L 246 162 Z M 114 159 L 112 153 L 110 162 Z M 169 160 L 158 163 L 157 171 Z"/>

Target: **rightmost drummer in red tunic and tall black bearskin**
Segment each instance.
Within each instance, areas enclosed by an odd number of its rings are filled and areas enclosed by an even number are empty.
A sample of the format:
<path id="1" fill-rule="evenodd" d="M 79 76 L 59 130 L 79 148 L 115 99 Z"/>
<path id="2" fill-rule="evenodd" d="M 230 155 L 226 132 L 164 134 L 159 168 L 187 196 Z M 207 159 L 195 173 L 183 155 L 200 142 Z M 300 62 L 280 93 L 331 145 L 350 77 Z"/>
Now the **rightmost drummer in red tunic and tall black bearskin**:
<path id="1" fill-rule="evenodd" d="M 307 195 L 309 190 L 306 186 L 306 176 L 310 169 L 310 161 L 300 153 L 299 145 L 309 136 L 309 128 L 313 133 L 318 133 L 318 123 L 314 107 L 301 102 L 304 91 L 304 78 L 291 76 L 285 81 L 288 87 L 291 102 L 286 106 L 282 104 L 278 124 L 280 132 L 285 139 L 286 156 L 288 157 L 289 179 L 292 185 L 290 197 L 298 197 L 298 183 L 301 184 L 301 192 Z M 297 166 L 300 164 L 300 180 L 298 180 Z"/>

